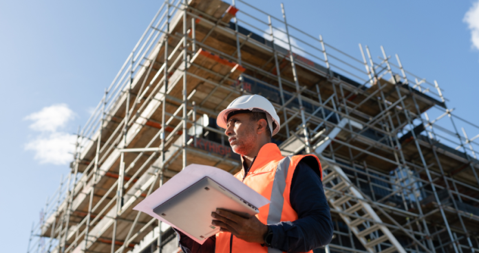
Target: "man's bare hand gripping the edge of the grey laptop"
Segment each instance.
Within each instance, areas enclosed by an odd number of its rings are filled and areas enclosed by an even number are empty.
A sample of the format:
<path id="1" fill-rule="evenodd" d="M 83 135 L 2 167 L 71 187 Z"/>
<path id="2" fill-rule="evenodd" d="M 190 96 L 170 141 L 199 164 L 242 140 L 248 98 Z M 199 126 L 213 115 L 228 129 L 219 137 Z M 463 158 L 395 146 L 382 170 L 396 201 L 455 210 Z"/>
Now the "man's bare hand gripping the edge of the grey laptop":
<path id="1" fill-rule="evenodd" d="M 255 215 L 243 218 L 225 210 L 217 209 L 211 212 L 214 220 L 212 225 L 221 228 L 222 232 L 231 232 L 237 238 L 249 243 L 264 243 L 264 235 L 268 232 L 268 226 L 264 225 Z"/>

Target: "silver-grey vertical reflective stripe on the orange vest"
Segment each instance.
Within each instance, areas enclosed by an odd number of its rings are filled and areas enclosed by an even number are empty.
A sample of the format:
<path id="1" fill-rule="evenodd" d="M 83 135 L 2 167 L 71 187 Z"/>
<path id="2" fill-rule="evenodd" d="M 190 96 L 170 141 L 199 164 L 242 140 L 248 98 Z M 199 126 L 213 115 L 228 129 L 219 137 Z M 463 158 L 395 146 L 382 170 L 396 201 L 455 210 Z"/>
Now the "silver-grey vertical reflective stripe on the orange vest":
<path id="1" fill-rule="evenodd" d="M 281 213 L 283 212 L 284 189 L 286 188 L 286 177 L 288 177 L 288 169 L 291 162 L 291 156 L 284 157 L 279 161 L 275 181 L 273 181 L 273 189 L 271 189 L 271 203 L 268 212 L 267 224 L 275 224 L 281 221 Z M 268 248 L 268 253 L 280 253 L 281 250 Z"/>

